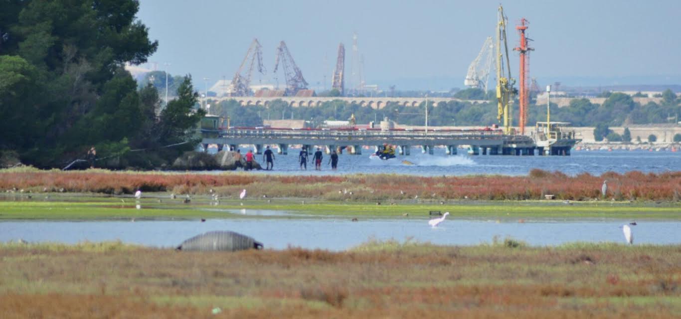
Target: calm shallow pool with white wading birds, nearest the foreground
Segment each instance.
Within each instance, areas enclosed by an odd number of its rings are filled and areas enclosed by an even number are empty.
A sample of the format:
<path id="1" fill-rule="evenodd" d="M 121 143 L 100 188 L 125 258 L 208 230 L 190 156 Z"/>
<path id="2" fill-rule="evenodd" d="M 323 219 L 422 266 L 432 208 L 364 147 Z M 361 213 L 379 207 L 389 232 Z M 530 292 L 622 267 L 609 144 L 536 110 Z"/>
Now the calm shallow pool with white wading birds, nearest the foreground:
<path id="1" fill-rule="evenodd" d="M 239 213 L 236 213 L 239 214 Z M 280 214 L 280 213 L 276 213 Z M 274 214 L 276 216 L 276 214 Z M 451 217 L 451 216 L 449 216 Z M 370 239 L 428 241 L 439 245 L 476 245 L 512 237 L 533 246 L 567 242 L 620 242 L 619 228 L 628 220 L 481 220 L 448 218 L 430 228 L 424 218 L 231 218 L 199 220 L 88 221 L 88 222 L 0 222 L 0 241 L 112 241 L 144 246 L 175 247 L 206 231 L 229 230 L 262 241 L 266 248 L 289 246 L 346 250 Z M 635 244 L 681 244 L 680 222 L 646 221 L 632 226 Z"/>

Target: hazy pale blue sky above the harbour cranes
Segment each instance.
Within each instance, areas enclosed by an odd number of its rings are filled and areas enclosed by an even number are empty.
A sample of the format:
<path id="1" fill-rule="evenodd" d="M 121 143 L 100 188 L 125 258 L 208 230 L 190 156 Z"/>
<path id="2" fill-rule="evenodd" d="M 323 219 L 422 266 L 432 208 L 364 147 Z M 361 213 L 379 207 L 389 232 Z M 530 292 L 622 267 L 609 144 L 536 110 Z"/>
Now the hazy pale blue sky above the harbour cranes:
<path id="1" fill-rule="evenodd" d="M 140 0 L 138 18 L 159 49 L 148 61 L 171 74 L 190 73 L 204 87 L 234 77 L 251 41 L 263 47 L 274 82 L 275 50 L 285 41 L 310 86 L 330 87 L 338 44 L 346 77 L 352 36 L 364 58 L 366 84 L 398 90 L 462 88 L 469 64 L 495 35 L 499 1 L 225 1 Z M 509 48 L 520 18 L 534 41 L 530 77 L 539 84 L 680 84 L 681 1 L 505 1 Z M 518 76 L 518 53 L 510 52 Z M 151 66 L 151 65 L 150 65 Z M 493 70 L 492 70 L 493 72 Z M 283 84 L 283 74 L 279 82 Z M 492 77 L 493 78 L 493 77 Z M 492 85 L 490 78 L 490 85 Z M 346 85 L 347 85 L 346 80 Z"/>

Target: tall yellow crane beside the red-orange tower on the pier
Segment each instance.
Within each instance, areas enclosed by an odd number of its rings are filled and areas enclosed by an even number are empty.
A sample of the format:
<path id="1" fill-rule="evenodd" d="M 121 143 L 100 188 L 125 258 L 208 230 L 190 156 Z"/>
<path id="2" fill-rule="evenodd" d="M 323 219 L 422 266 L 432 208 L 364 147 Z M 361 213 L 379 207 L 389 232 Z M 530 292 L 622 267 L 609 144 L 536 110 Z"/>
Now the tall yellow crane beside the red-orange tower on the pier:
<path id="1" fill-rule="evenodd" d="M 509 63 L 509 48 L 506 43 L 506 23 L 504 9 L 499 5 L 498 23 L 496 24 L 496 100 L 497 116 L 501 122 L 503 118 L 504 133 L 511 134 L 511 102 L 513 101 L 513 84 L 516 80 L 511 78 L 511 63 Z M 501 52 L 501 41 L 504 43 L 504 52 Z M 505 63 L 504 63 L 505 62 Z M 504 73 L 508 73 L 505 77 Z"/>

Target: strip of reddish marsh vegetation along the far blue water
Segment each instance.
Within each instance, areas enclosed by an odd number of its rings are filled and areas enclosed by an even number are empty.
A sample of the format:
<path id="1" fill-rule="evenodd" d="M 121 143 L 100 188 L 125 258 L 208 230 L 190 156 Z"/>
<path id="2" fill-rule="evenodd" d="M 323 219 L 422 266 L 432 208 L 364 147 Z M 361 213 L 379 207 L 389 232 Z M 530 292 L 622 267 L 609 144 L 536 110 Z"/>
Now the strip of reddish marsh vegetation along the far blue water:
<path id="1" fill-rule="evenodd" d="M 409 175 L 357 174 L 336 176 L 288 176 L 248 173 L 145 173 L 90 171 L 0 171 L 0 190 L 96 192 L 132 194 L 138 189 L 176 194 L 207 194 L 210 189 L 229 197 L 247 188 L 250 195 L 308 197 L 339 200 L 353 192 L 354 200 L 379 199 L 486 199 L 524 200 L 606 199 L 678 201 L 681 171 L 642 173 L 631 171 L 600 176 L 533 169 L 527 176 L 471 175 L 416 177 Z"/>

